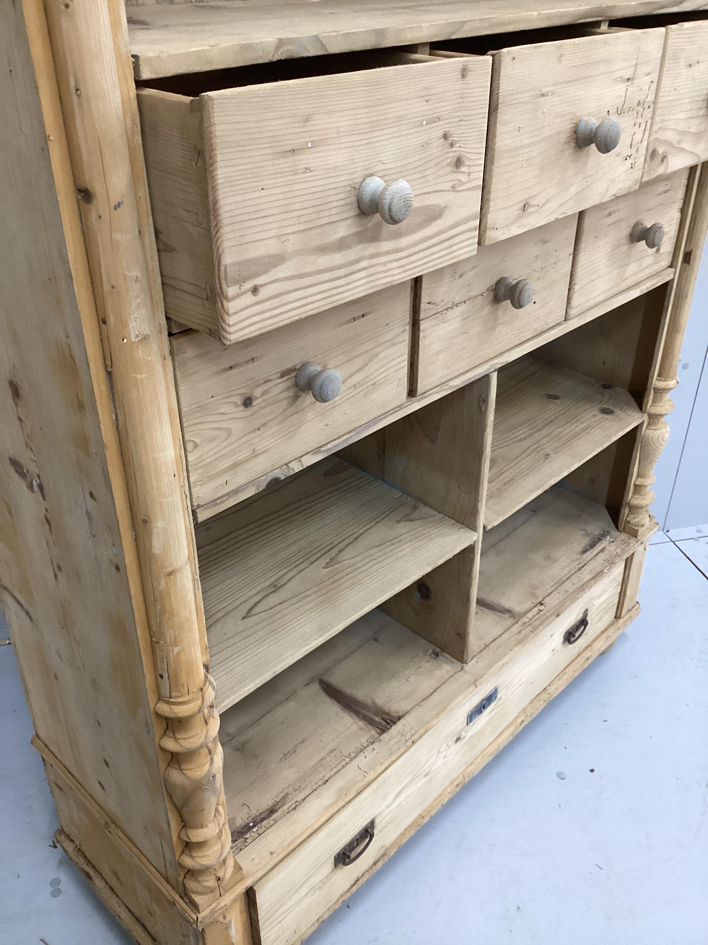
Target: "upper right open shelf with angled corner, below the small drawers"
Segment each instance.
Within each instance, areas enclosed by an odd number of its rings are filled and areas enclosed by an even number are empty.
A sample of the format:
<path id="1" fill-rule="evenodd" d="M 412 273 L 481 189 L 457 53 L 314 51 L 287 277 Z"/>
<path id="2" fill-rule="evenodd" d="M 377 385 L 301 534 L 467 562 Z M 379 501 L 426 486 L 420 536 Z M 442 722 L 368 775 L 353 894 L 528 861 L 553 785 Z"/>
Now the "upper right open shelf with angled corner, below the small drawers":
<path id="1" fill-rule="evenodd" d="M 626 390 L 527 355 L 499 370 L 484 527 L 493 528 L 644 419 Z"/>

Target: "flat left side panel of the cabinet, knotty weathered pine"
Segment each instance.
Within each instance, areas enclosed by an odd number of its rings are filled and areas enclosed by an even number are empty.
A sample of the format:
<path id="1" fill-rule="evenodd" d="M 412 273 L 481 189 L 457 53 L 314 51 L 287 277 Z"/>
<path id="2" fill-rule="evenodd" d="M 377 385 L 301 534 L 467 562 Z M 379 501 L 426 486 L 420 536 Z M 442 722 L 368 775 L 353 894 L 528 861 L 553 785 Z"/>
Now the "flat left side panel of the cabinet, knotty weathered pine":
<path id="1" fill-rule="evenodd" d="M 0 580 L 34 725 L 177 868 L 136 616 L 22 8 L 0 26 Z"/>

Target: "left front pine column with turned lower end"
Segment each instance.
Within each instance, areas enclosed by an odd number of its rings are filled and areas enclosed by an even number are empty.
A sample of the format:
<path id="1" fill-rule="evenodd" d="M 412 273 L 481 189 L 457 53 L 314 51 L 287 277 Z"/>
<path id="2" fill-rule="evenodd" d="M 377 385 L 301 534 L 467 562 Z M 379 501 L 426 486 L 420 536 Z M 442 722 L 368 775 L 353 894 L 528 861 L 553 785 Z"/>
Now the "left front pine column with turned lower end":
<path id="1" fill-rule="evenodd" d="M 172 757 L 161 786 L 174 803 L 176 882 L 203 908 L 228 889 L 233 859 L 125 9 L 119 0 L 45 9 L 75 183 L 68 199 L 82 195 L 111 370 L 132 518 L 126 544 L 135 542 L 153 647 L 154 711 L 167 719 L 160 747 Z"/>

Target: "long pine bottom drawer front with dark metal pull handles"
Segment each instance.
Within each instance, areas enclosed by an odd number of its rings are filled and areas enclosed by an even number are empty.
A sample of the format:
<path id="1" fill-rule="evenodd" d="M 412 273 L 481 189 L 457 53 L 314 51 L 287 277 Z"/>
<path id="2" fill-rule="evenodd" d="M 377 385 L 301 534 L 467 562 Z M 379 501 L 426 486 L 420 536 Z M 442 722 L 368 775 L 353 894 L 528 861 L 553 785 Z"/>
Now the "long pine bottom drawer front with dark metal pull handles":
<path id="1" fill-rule="evenodd" d="M 249 890 L 254 939 L 296 945 L 609 646 L 624 562 L 470 686 L 393 765 Z"/>

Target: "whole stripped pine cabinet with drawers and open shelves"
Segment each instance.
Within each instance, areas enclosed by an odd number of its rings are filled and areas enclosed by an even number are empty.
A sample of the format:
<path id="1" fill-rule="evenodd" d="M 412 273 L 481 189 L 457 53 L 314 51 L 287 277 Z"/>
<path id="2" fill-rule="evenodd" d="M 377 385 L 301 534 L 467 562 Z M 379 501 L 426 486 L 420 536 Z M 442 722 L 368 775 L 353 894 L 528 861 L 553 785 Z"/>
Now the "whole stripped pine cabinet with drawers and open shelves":
<path id="1" fill-rule="evenodd" d="M 636 616 L 708 230 L 662 5 L 3 6 L 0 592 L 140 945 L 302 941 Z"/>

